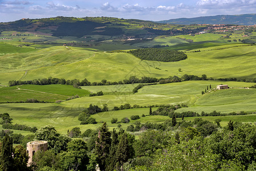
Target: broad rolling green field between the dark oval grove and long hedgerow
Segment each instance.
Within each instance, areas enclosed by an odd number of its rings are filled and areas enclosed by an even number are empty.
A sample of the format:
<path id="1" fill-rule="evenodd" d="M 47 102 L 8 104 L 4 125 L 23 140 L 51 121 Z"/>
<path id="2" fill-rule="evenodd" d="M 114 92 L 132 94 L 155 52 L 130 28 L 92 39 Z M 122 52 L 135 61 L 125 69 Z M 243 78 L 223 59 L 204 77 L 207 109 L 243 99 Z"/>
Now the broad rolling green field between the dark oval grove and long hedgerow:
<path id="1" fill-rule="evenodd" d="M 55 46 L 36 52 L 0 56 L 0 83 L 7 85 L 11 79 L 32 80 L 49 76 L 80 80 L 87 78 L 90 82 L 100 82 L 102 79 L 119 81 L 131 75 L 138 78 L 167 78 L 184 74 L 206 74 L 213 78 L 256 78 L 255 46 L 237 46 L 230 44 L 218 47 L 220 50 L 217 47 L 216 50 L 201 49 L 202 52 L 187 53 L 186 60 L 168 63 L 140 60 L 126 53 L 76 47 L 68 50 L 63 46 Z M 182 72 L 178 72 L 178 68 Z"/>

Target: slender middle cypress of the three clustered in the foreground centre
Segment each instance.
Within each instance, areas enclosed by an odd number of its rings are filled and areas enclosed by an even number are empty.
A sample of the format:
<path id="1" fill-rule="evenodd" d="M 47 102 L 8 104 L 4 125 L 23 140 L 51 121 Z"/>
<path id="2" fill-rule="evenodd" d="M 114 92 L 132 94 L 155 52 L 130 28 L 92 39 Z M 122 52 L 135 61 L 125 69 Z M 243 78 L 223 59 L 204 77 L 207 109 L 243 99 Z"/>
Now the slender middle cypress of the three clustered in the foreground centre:
<path id="1" fill-rule="evenodd" d="M 117 145 L 119 143 L 118 135 L 117 135 L 115 129 L 113 129 L 113 132 L 112 132 L 111 136 L 112 136 L 112 141 L 111 141 L 111 147 L 109 149 L 109 157 L 108 157 L 107 170 L 115 170 L 115 166 L 116 166 L 116 150 L 117 150 Z"/>

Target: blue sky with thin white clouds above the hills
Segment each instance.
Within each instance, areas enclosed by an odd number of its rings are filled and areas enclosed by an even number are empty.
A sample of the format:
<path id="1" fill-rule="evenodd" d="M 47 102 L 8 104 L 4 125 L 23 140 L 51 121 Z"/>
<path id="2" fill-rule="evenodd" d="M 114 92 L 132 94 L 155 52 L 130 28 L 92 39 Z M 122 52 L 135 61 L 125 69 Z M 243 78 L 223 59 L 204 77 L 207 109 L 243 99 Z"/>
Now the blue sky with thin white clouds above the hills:
<path id="1" fill-rule="evenodd" d="M 256 0 L 0 0 L 0 22 L 57 16 L 161 21 L 252 13 Z"/>

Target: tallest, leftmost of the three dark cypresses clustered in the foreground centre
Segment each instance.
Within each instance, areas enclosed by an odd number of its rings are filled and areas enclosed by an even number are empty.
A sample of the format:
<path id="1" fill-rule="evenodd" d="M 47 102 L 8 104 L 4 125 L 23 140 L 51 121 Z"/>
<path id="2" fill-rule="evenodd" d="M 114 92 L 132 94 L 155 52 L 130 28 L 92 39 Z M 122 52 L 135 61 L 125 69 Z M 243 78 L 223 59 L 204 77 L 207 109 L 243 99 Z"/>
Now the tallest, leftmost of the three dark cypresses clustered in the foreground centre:
<path id="1" fill-rule="evenodd" d="M 111 133 L 108 131 L 107 123 L 103 123 L 99 129 L 95 145 L 95 152 L 97 154 L 97 162 L 99 164 L 100 170 L 106 169 L 110 145 Z"/>

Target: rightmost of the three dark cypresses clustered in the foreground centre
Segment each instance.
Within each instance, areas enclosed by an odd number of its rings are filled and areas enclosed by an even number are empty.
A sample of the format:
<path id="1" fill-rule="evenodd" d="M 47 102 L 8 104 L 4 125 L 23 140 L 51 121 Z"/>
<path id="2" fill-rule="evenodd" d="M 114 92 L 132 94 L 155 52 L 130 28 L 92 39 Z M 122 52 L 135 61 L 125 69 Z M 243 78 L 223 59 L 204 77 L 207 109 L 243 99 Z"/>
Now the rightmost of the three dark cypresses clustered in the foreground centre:
<path id="1" fill-rule="evenodd" d="M 119 165 L 121 165 L 121 170 L 123 170 L 123 164 L 129 159 L 129 144 L 127 139 L 127 134 L 123 133 L 121 135 L 117 150 L 116 159 Z"/>

